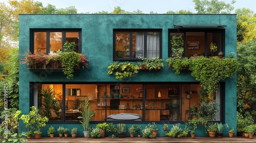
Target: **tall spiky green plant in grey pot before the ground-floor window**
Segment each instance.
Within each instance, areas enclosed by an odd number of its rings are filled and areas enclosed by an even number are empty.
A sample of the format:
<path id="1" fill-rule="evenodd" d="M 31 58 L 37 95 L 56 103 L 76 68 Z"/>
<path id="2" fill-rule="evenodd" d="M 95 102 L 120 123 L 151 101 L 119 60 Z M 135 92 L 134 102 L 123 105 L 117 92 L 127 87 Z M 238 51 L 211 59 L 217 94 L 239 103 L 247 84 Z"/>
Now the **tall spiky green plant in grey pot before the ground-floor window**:
<path id="1" fill-rule="evenodd" d="M 80 111 L 81 116 L 78 116 L 78 118 L 82 119 L 80 123 L 83 127 L 83 134 L 84 137 L 88 137 L 90 129 L 90 120 L 95 114 L 95 111 L 92 111 L 91 107 L 89 106 L 89 101 L 85 97 L 83 97 L 83 102 L 80 103 L 79 109 L 83 109 L 82 111 Z"/>

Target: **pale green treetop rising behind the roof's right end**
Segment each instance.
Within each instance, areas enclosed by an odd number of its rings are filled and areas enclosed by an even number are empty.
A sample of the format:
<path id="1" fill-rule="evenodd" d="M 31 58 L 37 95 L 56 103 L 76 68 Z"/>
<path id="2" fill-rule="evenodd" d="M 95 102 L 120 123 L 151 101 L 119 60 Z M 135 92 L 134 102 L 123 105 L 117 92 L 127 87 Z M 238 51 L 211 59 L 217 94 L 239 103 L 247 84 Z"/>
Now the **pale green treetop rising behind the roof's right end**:
<path id="1" fill-rule="evenodd" d="M 236 1 L 232 0 L 230 4 L 226 4 L 219 0 L 193 0 L 193 3 L 198 14 L 227 14 L 234 9 L 232 4 Z"/>

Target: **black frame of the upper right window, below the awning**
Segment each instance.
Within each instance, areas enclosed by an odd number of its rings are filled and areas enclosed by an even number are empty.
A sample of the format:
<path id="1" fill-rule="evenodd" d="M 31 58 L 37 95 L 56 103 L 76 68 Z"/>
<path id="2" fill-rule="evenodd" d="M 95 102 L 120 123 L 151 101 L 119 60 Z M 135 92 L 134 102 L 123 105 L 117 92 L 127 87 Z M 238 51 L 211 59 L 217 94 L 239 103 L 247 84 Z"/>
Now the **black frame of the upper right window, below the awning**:
<path id="1" fill-rule="evenodd" d="M 171 57 L 171 51 L 170 51 L 170 33 L 183 33 L 184 37 L 183 37 L 183 40 L 184 40 L 184 54 L 183 54 L 183 57 L 185 57 L 186 55 L 186 32 L 204 32 L 204 35 L 205 35 L 205 46 L 204 46 L 204 49 L 205 49 L 205 53 L 203 56 L 207 56 L 207 53 L 209 53 L 209 51 L 207 51 L 207 33 L 220 33 L 221 34 L 221 52 L 225 52 L 225 29 L 212 29 L 212 28 L 209 28 L 209 29 L 202 29 L 202 28 L 182 28 L 182 29 L 168 29 L 168 57 Z"/>

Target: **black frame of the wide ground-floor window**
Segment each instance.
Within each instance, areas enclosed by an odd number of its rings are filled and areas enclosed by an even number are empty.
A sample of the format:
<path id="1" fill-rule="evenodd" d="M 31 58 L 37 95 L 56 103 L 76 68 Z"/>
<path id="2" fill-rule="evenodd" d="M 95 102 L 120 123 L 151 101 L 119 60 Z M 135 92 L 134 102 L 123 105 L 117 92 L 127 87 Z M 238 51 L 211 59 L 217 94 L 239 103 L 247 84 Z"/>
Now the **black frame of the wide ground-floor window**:
<path id="1" fill-rule="evenodd" d="M 41 82 L 41 83 L 38 83 L 38 82 L 30 82 L 30 107 L 31 106 L 34 106 L 35 103 L 34 103 L 34 85 L 38 85 L 38 84 L 61 84 L 62 85 L 62 99 L 66 99 L 66 85 L 67 84 L 101 84 L 101 85 L 108 85 L 108 84 L 112 84 L 112 85 L 115 85 L 116 82 Z M 143 99 L 142 99 L 142 104 L 143 104 L 143 109 L 142 109 L 142 117 L 143 117 L 143 121 L 142 122 L 138 122 L 138 121 L 133 121 L 133 122 L 121 122 L 121 123 L 124 123 L 124 124 L 133 124 L 133 123 L 136 123 L 136 124 L 147 124 L 148 122 L 152 122 L 152 121 L 145 121 L 145 103 L 146 103 L 146 97 L 145 97 L 145 89 L 146 89 L 146 85 L 155 85 L 155 84 L 180 84 L 180 85 L 185 85 L 185 84 L 200 84 L 199 82 L 132 82 L 132 83 L 118 83 L 118 84 L 142 84 L 143 86 Z M 220 82 L 220 92 L 221 92 L 221 101 L 220 101 L 220 121 L 208 121 L 208 122 L 216 122 L 216 123 L 224 123 L 225 121 L 225 82 Z M 106 89 L 105 89 L 106 90 Z M 107 100 L 107 99 L 105 99 Z M 182 102 L 182 99 L 180 98 L 181 102 Z M 190 102 L 190 99 L 189 99 L 189 102 Z M 62 101 L 62 110 L 65 110 L 65 102 Z M 105 108 L 105 111 L 107 109 Z M 181 111 L 181 114 L 183 114 L 184 111 Z M 65 118 L 65 112 L 63 112 L 62 114 L 62 120 L 61 121 L 49 121 L 48 124 L 80 124 L 79 121 L 67 121 L 66 118 Z M 98 123 L 103 123 L 103 122 L 107 122 L 107 123 L 119 123 L 120 121 L 91 121 L 92 124 L 98 124 Z M 153 122 L 156 122 L 158 124 L 161 124 L 163 123 L 164 121 L 153 121 Z M 184 121 L 181 120 L 180 121 L 168 121 L 169 124 L 176 124 L 176 123 L 184 123 Z"/>

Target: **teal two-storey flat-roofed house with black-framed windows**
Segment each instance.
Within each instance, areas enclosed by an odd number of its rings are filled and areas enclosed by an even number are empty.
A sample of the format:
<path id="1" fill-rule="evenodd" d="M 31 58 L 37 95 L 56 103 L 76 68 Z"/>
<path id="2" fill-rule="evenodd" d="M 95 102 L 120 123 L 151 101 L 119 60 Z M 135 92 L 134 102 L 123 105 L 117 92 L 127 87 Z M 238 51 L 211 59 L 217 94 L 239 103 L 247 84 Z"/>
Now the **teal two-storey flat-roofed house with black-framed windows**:
<path id="1" fill-rule="evenodd" d="M 66 41 L 75 42 L 75 51 L 86 54 L 90 68 L 75 70 L 67 79 L 57 68 L 31 69 L 19 65 L 19 110 L 29 112 L 29 107 L 43 109 L 50 118 L 43 131 L 47 136 L 50 126 L 82 127 L 77 116 L 79 103 L 86 97 L 96 112 L 91 126 L 102 122 L 120 122 L 127 127 L 142 127 L 156 122 L 158 136 L 164 136 L 163 124 L 182 123 L 195 115 L 189 107 L 198 107 L 200 82 L 181 71 L 179 75 L 168 68 L 166 59 L 172 56 L 170 39 L 180 36 L 184 40 L 184 57 L 193 55 L 216 56 L 209 49 L 215 43 L 218 52 L 236 57 L 235 14 L 20 14 L 19 53 L 52 54 L 63 51 Z M 113 61 L 130 61 L 139 57 L 160 57 L 164 68 L 138 70 L 137 76 L 123 78 L 108 75 L 108 65 Z M 24 57 L 20 57 L 22 61 Z M 236 77 L 218 84 L 212 97 L 220 104 L 216 122 L 228 123 L 236 130 Z M 54 105 L 44 110 L 44 100 L 39 91 L 52 89 Z M 161 96 L 158 96 L 160 93 Z M 134 113 L 140 121 L 107 121 L 111 114 Z M 197 136 L 207 136 L 204 127 L 198 126 Z M 236 133 L 236 132 L 235 132 Z M 128 134 L 128 133 L 127 133 Z M 227 132 L 224 133 L 227 136 Z M 235 134 L 236 135 L 236 134 Z M 127 135 L 128 136 L 128 135 Z"/>

